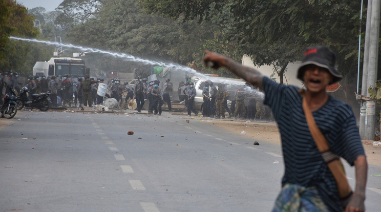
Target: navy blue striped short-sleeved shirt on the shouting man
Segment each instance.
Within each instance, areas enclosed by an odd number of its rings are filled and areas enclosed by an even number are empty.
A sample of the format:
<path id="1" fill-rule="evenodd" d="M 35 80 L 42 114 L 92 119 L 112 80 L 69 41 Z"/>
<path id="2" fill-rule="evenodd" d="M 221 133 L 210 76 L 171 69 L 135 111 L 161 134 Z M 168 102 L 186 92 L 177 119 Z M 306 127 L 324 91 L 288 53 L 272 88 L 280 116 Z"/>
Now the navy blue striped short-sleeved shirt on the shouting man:
<path id="1" fill-rule="evenodd" d="M 330 211 L 343 211 L 335 179 L 308 129 L 299 88 L 278 84 L 267 77 L 262 83 L 264 103 L 271 107 L 281 133 L 285 164 L 282 185 L 316 186 Z M 365 155 L 353 111 L 347 103 L 329 96 L 323 107 L 312 114 L 333 153 L 352 166 L 358 156 Z"/>

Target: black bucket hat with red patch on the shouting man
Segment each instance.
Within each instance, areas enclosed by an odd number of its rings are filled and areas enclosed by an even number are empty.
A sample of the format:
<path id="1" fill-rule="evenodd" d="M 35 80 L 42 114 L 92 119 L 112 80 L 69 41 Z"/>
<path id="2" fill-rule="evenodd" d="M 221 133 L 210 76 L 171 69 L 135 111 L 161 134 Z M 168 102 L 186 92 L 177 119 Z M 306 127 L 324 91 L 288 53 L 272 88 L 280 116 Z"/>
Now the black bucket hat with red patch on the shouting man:
<path id="1" fill-rule="evenodd" d="M 303 62 L 298 69 L 298 79 L 303 81 L 304 66 L 306 65 L 316 65 L 328 69 L 328 71 L 333 75 L 333 80 L 330 84 L 333 84 L 343 78 L 335 68 L 336 56 L 332 50 L 325 46 L 309 47 L 304 51 Z"/>

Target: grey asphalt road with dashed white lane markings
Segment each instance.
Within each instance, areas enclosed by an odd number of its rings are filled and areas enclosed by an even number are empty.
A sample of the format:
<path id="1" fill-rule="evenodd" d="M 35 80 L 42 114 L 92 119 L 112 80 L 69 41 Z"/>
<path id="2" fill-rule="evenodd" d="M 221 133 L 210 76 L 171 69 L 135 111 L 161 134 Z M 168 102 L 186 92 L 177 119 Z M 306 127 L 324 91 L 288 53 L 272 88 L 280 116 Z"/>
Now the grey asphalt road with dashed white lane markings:
<path id="1" fill-rule="evenodd" d="M 279 145 L 201 118 L 21 111 L 0 135 L 0 211 L 270 211 L 281 187 Z"/>

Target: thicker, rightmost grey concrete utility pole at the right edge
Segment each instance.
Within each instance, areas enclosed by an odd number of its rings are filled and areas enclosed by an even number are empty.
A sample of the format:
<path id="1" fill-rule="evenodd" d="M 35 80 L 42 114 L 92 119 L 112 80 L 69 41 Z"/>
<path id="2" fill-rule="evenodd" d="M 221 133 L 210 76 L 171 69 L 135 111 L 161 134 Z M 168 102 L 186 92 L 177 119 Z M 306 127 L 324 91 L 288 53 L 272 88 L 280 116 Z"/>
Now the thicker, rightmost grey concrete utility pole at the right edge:
<path id="1" fill-rule="evenodd" d="M 381 0 L 373 0 L 371 9 L 371 29 L 369 39 L 369 61 L 368 61 L 368 79 L 367 87 L 375 86 L 377 80 L 377 58 L 378 58 L 378 38 L 379 38 L 379 18 L 380 18 Z M 367 20 L 368 22 L 368 20 Z M 366 89 L 368 91 L 368 89 Z M 367 93 L 369 97 L 369 93 Z M 367 101 L 367 111 L 365 115 L 365 137 L 366 140 L 374 140 L 375 126 L 375 104 L 374 100 Z"/>

